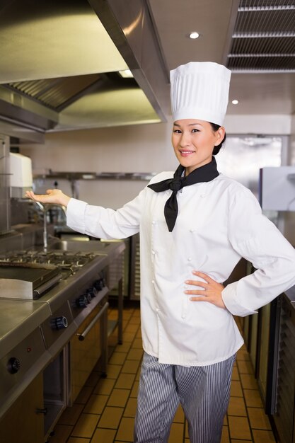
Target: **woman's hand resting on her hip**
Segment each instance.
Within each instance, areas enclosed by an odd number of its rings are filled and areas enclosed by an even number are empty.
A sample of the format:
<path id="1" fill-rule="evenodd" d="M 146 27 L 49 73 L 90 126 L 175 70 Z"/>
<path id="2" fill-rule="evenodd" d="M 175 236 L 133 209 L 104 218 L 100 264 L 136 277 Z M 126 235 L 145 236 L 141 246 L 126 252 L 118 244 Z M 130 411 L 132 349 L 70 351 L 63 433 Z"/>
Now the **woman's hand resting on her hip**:
<path id="1" fill-rule="evenodd" d="M 201 277 L 203 281 L 200 280 L 186 280 L 186 284 L 191 284 L 192 286 L 202 287 L 204 289 L 187 289 L 185 294 L 190 294 L 190 300 L 192 301 L 208 301 L 209 303 L 215 304 L 219 308 L 226 309 L 226 305 L 221 296 L 221 292 L 224 289 L 224 285 L 213 280 L 209 275 L 204 274 L 204 272 L 192 271 L 193 275 Z M 200 297 L 195 297 L 200 296 Z"/>

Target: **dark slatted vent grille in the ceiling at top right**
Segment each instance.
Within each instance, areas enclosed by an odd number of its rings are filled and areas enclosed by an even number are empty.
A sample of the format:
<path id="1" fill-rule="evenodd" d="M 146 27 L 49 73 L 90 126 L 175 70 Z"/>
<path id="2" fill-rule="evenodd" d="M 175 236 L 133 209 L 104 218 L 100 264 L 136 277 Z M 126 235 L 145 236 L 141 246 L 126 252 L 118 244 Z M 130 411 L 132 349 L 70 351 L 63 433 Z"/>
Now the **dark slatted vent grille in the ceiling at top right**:
<path id="1" fill-rule="evenodd" d="M 295 72 L 294 23 L 294 0 L 241 0 L 227 67 L 233 72 Z"/>

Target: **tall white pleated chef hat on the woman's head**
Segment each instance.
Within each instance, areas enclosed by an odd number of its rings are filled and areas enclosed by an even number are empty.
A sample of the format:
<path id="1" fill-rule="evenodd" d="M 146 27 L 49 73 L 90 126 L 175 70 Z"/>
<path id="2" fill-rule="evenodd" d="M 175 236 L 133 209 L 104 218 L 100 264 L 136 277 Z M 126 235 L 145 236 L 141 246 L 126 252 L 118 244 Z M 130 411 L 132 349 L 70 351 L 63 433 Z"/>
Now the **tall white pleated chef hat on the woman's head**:
<path id="1" fill-rule="evenodd" d="M 213 62 L 190 62 L 170 71 L 173 121 L 184 118 L 223 125 L 231 71 Z"/>

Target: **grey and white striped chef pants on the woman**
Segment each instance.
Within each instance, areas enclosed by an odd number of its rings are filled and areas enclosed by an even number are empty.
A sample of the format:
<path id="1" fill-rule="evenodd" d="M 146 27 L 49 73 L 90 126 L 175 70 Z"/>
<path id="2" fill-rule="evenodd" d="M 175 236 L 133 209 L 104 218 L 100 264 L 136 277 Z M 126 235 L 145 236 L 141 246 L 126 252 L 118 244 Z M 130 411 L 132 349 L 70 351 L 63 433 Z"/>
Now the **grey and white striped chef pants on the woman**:
<path id="1" fill-rule="evenodd" d="M 236 355 L 208 366 L 162 364 L 144 352 L 134 443 L 167 443 L 181 403 L 191 443 L 219 443 Z"/>

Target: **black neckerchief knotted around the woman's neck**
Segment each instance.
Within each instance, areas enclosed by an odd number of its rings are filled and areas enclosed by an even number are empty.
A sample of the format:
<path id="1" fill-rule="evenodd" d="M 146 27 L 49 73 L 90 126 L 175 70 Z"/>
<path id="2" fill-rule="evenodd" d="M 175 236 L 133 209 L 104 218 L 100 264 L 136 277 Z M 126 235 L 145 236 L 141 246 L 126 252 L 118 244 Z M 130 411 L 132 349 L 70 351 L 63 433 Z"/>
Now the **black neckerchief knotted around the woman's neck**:
<path id="1" fill-rule="evenodd" d="M 173 175 L 173 178 L 168 178 L 168 180 L 163 180 L 158 183 L 148 185 L 148 188 L 151 188 L 155 192 L 163 192 L 169 189 L 172 190 L 172 194 L 168 198 L 164 208 L 164 215 L 169 232 L 173 231 L 176 218 L 178 216 L 178 202 L 176 197 L 178 191 L 185 186 L 211 181 L 219 176 L 214 157 L 212 157 L 212 161 L 210 161 L 210 163 L 194 169 L 194 171 L 192 171 L 186 177 L 183 177 L 183 171 L 185 171 L 185 167 L 179 165 Z"/>

